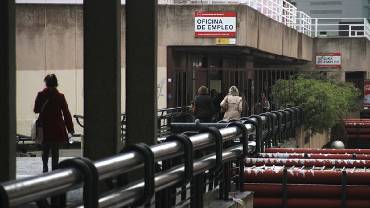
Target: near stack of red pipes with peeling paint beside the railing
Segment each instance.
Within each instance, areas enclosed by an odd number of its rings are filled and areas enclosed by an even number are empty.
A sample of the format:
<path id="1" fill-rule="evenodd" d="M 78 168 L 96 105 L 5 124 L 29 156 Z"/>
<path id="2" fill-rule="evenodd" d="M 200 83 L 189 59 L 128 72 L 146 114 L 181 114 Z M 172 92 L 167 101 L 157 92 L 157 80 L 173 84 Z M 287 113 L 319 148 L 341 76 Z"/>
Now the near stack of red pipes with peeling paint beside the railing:
<path id="1" fill-rule="evenodd" d="M 245 159 L 254 207 L 370 207 L 370 150 L 266 148 L 256 157 Z"/>

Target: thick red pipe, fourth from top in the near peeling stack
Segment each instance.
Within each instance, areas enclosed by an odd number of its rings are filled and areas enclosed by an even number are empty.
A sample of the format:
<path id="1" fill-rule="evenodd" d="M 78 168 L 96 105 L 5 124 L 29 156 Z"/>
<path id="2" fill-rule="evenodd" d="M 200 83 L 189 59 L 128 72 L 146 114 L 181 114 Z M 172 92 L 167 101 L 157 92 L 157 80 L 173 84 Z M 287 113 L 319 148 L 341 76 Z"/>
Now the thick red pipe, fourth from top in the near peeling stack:
<path id="1" fill-rule="evenodd" d="M 288 170 L 288 182 L 291 184 L 342 184 L 341 171 Z M 369 185 L 370 172 L 347 171 L 347 184 Z M 283 170 L 246 169 L 246 183 L 282 183 Z"/>

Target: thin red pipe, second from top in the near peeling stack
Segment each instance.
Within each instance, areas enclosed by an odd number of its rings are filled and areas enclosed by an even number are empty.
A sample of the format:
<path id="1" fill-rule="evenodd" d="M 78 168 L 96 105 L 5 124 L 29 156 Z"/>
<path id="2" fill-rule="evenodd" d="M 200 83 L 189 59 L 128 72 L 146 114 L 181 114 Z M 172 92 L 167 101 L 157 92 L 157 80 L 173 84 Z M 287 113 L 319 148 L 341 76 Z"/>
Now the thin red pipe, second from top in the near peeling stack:
<path id="1" fill-rule="evenodd" d="M 353 155 L 356 158 L 353 158 Z M 304 153 L 259 153 L 260 158 L 297 158 L 304 159 Z M 355 160 L 370 160 L 370 155 L 356 154 L 307 154 L 307 159 L 355 159 Z"/>

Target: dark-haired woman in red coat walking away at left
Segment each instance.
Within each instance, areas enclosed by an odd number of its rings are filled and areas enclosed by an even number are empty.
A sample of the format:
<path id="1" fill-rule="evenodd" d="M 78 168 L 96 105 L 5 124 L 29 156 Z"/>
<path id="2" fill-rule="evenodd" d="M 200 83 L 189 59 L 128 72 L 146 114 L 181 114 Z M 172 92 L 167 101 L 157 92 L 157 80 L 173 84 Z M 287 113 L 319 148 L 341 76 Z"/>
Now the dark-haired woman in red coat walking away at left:
<path id="1" fill-rule="evenodd" d="M 55 74 L 49 74 L 44 78 L 46 88 L 38 92 L 33 111 L 40 113 L 41 108 L 44 108 L 40 114 L 41 123 L 43 124 L 43 142 L 41 142 L 41 158 L 43 160 L 43 172 L 48 172 L 49 151 L 51 150 L 52 170 L 58 165 L 59 160 L 59 145 L 60 142 L 67 142 L 67 127 L 68 132 L 74 133 L 72 117 L 68 110 L 67 102 L 64 94 L 57 90 L 58 80 Z M 63 117 L 62 118 L 62 112 Z"/>

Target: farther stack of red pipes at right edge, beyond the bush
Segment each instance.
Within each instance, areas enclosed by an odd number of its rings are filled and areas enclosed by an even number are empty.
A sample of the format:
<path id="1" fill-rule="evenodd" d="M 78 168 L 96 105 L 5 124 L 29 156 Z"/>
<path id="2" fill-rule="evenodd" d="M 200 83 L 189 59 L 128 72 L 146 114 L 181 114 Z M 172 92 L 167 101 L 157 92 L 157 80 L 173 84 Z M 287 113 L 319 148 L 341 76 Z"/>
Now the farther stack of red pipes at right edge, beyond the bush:
<path id="1" fill-rule="evenodd" d="M 370 148 L 370 119 L 345 119 L 349 148 Z"/>

